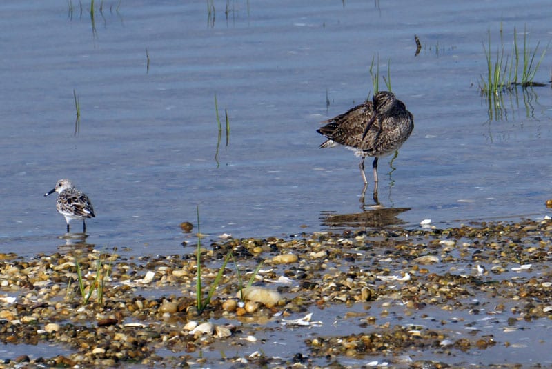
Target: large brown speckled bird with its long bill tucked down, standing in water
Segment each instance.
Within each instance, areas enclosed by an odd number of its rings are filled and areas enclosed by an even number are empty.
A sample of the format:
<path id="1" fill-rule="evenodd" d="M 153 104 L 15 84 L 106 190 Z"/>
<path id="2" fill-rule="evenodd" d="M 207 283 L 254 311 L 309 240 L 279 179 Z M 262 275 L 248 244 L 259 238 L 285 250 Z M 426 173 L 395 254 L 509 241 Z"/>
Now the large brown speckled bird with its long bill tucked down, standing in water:
<path id="1" fill-rule="evenodd" d="M 327 140 L 320 148 L 339 143 L 354 150 L 355 155 L 362 158 L 359 168 L 365 184 L 368 181 L 364 173 L 364 159 L 374 157 L 372 168 L 377 186 L 377 159 L 395 152 L 410 137 L 414 117 L 394 94 L 382 91 L 377 92 L 372 101 L 361 103 L 322 123 L 326 125 L 317 132 Z"/>

